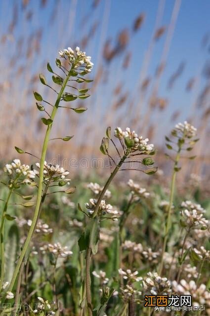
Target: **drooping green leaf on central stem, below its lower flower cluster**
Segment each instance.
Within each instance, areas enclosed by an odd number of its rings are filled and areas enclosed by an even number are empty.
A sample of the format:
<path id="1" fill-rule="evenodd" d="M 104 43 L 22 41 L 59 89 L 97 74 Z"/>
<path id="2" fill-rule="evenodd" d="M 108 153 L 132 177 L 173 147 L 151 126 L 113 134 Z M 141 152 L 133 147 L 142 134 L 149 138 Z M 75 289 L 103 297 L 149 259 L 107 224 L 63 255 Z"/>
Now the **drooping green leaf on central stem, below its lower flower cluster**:
<path id="1" fill-rule="evenodd" d="M 82 236 L 78 241 L 80 251 L 90 248 L 93 255 L 97 253 L 99 230 L 99 219 L 96 216 L 93 219 L 91 219 L 90 222 L 87 224 Z"/>

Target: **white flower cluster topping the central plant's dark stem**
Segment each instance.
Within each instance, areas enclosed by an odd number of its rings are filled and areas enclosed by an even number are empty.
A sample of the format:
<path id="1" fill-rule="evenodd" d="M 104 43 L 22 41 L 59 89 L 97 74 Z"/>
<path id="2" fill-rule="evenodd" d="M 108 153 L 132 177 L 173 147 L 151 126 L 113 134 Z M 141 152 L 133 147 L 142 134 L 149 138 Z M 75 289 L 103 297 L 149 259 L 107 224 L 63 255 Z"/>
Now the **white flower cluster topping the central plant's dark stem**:
<path id="1" fill-rule="evenodd" d="M 131 148 L 132 151 L 140 151 L 142 154 L 149 154 L 154 150 L 153 144 L 147 144 L 149 139 L 143 139 L 142 136 L 138 136 L 135 131 L 130 131 L 129 127 L 126 127 L 126 130 L 123 131 L 121 127 L 116 127 L 114 132 L 115 137 L 119 139 L 124 139 L 126 147 Z"/>

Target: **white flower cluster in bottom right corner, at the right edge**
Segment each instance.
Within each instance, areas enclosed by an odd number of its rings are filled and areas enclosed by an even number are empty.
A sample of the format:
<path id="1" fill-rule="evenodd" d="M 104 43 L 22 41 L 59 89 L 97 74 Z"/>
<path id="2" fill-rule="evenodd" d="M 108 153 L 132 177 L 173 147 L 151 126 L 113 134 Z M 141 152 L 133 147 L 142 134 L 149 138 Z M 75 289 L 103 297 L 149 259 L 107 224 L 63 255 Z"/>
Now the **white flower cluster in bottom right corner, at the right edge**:
<path id="1" fill-rule="evenodd" d="M 209 305 L 210 306 L 210 292 L 207 290 L 205 284 L 199 287 L 196 282 L 191 280 L 187 283 L 184 279 L 178 284 L 176 281 L 172 282 L 173 290 L 179 295 L 191 295 L 192 304 L 194 306 Z"/>

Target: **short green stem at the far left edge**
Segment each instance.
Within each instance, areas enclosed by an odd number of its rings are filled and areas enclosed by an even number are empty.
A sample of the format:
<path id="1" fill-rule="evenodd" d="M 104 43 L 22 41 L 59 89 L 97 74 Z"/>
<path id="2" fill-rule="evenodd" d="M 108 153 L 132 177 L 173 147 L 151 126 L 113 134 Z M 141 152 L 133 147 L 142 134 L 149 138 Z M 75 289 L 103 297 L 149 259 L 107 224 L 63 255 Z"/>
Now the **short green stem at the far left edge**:
<path id="1" fill-rule="evenodd" d="M 5 258 L 4 258 L 4 221 L 5 221 L 5 215 L 7 212 L 7 206 L 9 202 L 9 198 L 11 197 L 13 191 L 13 186 L 9 189 L 9 193 L 4 205 L 3 213 L 1 216 L 1 225 L 0 225 L 0 256 L 1 256 L 1 271 L 0 271 L 0 289 L 2 289 L 3 284 L 3 278 L 4 278 L 4 266 L 5 266 Z"/>

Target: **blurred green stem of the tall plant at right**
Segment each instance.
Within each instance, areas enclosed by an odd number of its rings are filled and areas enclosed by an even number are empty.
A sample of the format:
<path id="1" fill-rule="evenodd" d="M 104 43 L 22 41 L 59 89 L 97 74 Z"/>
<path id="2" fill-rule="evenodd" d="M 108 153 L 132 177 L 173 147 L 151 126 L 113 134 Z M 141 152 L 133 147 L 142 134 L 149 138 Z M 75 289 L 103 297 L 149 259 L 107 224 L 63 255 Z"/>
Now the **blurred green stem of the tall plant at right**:
<path id="1" fill-rule="evenodd" d="M 179 158 L 180 158 L 180 152 L 181 152 L 181 147 L 178 149 L 178 152 L 176 154 L 176 158 L 175 158 L 175 161 L 174 161 L 174 168 L 178 164 L 178 161 L 179 161 Z M 167 217 L 167 222 L 166 222 L 166 227 L 165 227 L 165 237 L 164 237 L 164 244 L 163 244 L 163 249 L 162 249 L 162 257 L 161 257 L 161 265 L 160 265 L 160 270 L 159 270 L 159 276 L 161 276 L 162 272 L 163 272 L 164 253 L 166 251 L 166 246 L 167 246 L 167 241 L 168 241 L 168 232 L 169 232 L 169 229 L 170 229 L 171 207 L 172 207 L 172 204 L 173 204 L 175 180 L 176 180 L 176 173 L 177 173 L 177 171 L 175 171 L 174 168 L 173 168 L 172 180 L 171 180 L 171 186 L 170 186 L 170 200 L 169 200 L 169 205 L 168 205 L 168 217 Z"/>

